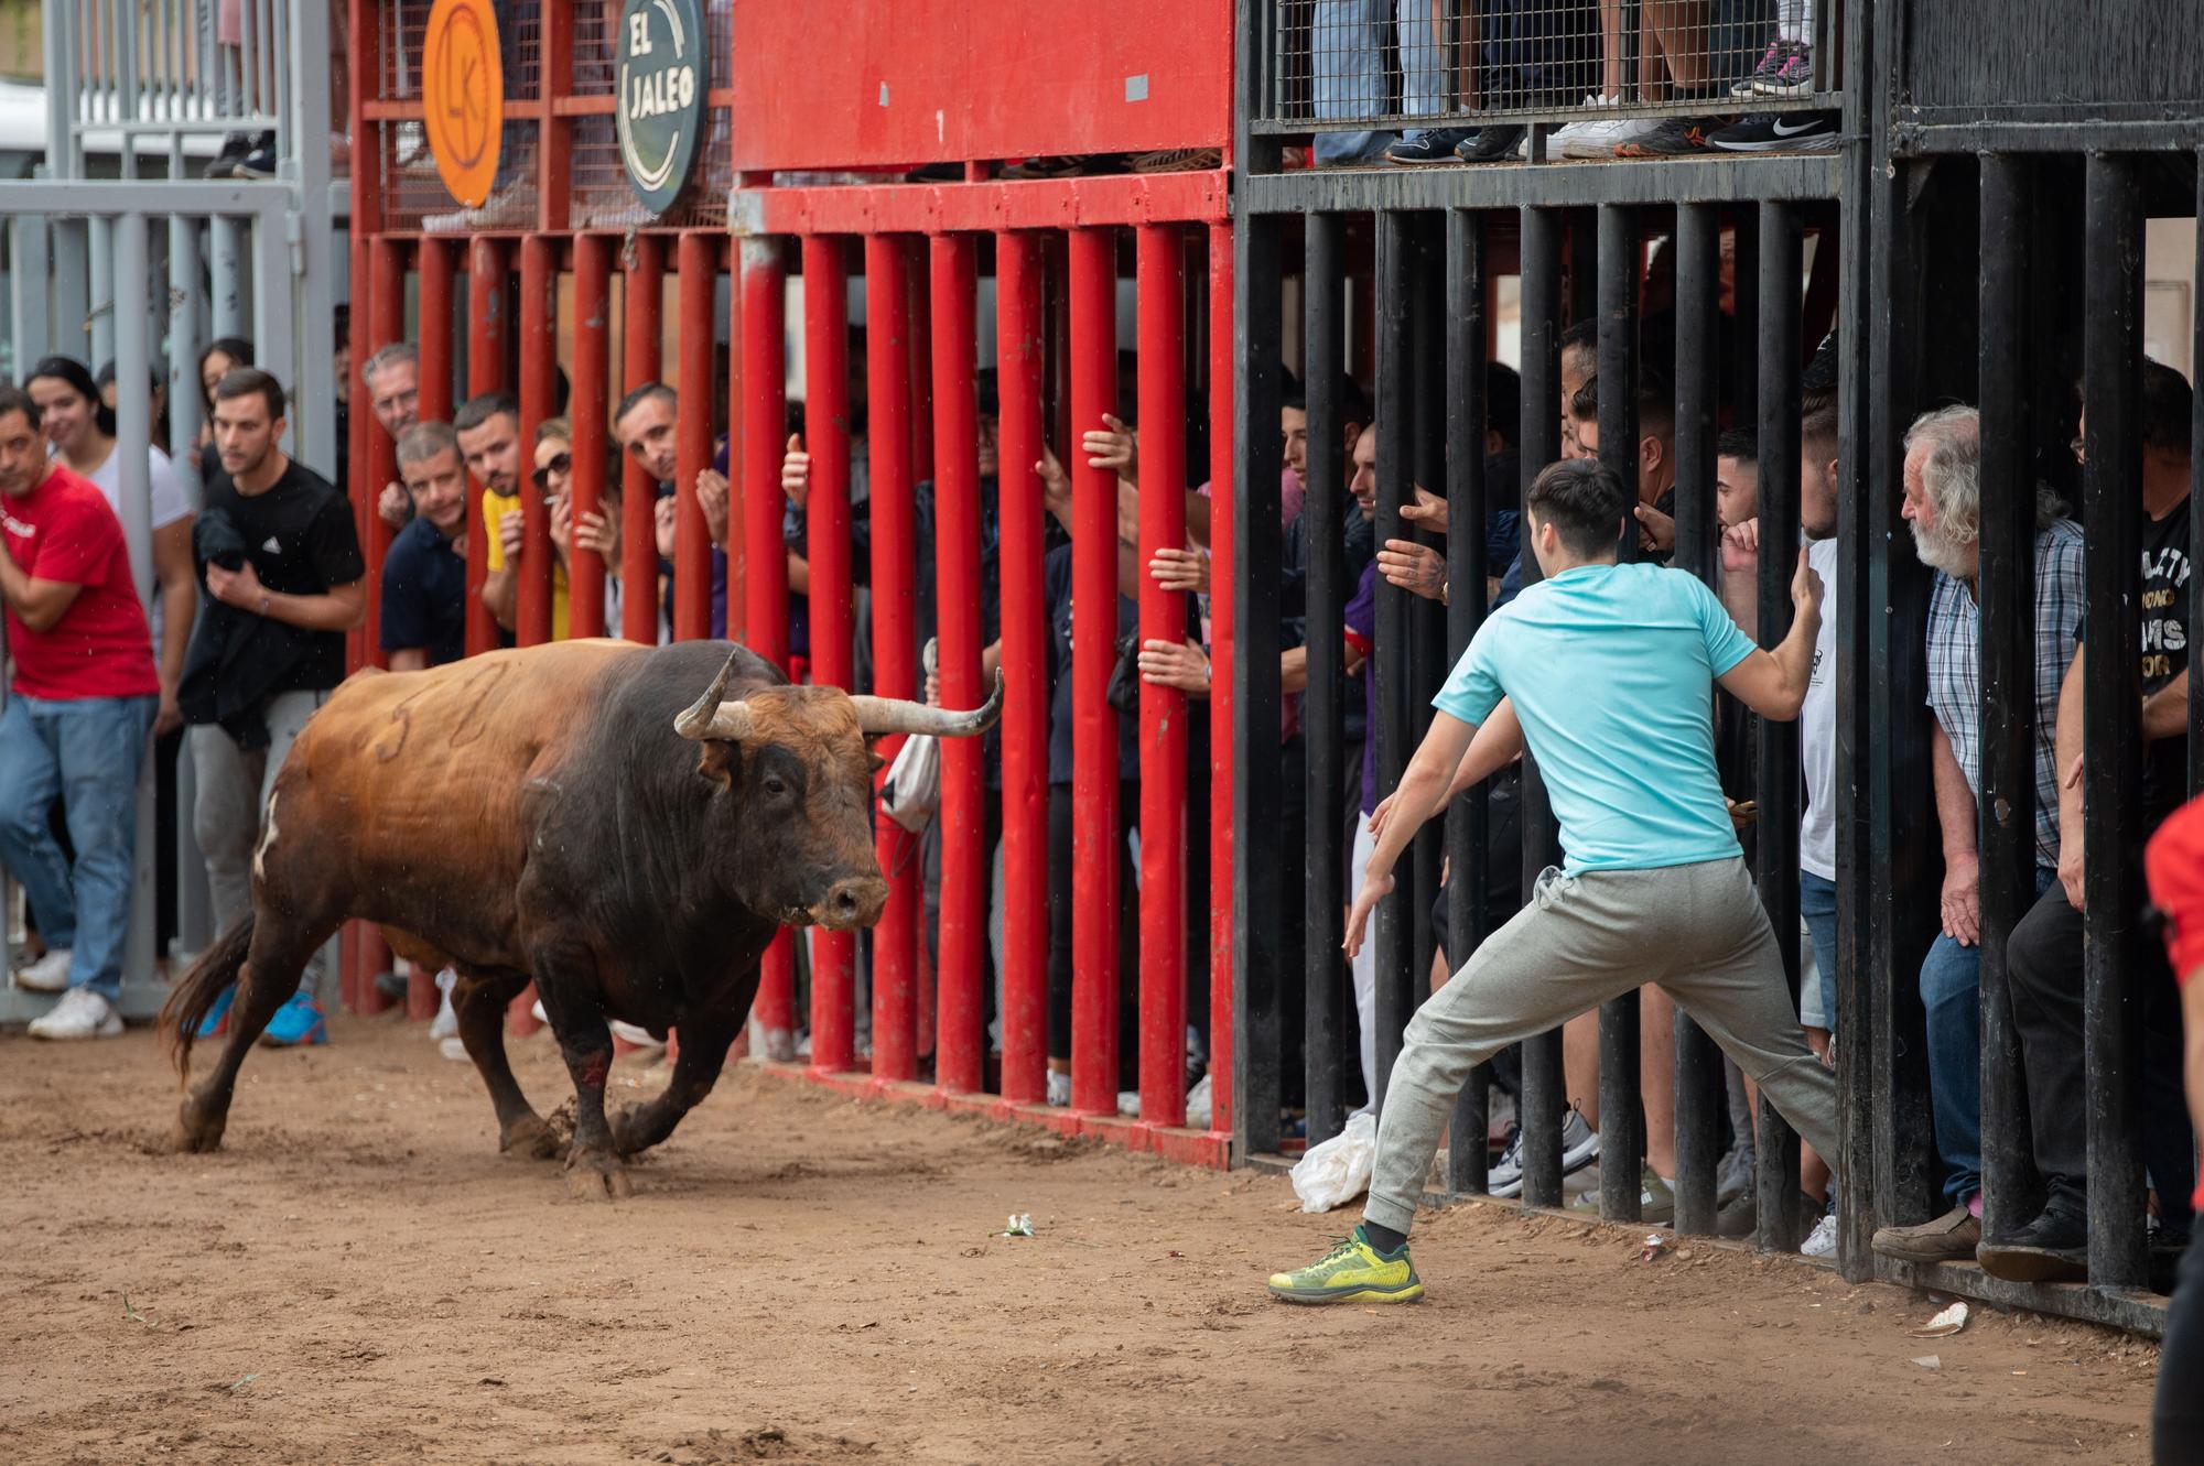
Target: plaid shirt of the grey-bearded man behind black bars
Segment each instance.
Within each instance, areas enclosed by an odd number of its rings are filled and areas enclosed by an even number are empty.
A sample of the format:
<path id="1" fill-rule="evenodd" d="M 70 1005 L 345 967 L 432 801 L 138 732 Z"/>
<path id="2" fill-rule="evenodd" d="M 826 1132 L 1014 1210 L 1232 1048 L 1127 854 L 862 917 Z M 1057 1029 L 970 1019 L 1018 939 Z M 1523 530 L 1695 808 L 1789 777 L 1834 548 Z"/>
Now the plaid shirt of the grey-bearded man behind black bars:
<path id="1" fill-rule="evenodd" d="M 2036 533 L 2036 865 L 2059 865 L 2059 682 L 2081 625 L 2081 528 L 2056 519 Z M 1929 709 L 1966 786 L 1981 799 L 1981 610 L 1964 581 L 1935 577 L 1929 599 Z"/>

